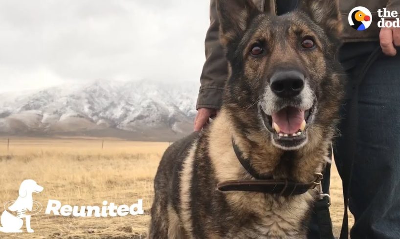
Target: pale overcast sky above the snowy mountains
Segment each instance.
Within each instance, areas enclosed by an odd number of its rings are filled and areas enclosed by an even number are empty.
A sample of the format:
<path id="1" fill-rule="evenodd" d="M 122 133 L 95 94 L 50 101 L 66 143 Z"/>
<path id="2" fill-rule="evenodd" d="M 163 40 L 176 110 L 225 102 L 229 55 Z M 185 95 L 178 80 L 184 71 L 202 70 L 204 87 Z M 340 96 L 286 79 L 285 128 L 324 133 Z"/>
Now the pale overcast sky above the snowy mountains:
<path id="1" fill-rule="evenodd" d="M 208 0 L 0 0 L 0 92 L 97 79 L 197 82 Z"/>

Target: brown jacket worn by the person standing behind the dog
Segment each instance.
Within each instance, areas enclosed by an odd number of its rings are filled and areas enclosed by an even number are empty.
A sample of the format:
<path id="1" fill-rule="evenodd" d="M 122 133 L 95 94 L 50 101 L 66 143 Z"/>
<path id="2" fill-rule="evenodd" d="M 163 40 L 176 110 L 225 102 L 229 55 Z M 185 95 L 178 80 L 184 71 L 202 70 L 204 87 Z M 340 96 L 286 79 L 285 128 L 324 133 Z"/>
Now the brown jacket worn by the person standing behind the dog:
<path id="1" fill-rule="evenodd" d="M 253 0 L 253 2 L 269 14 L 276 15 L 277 0 Z M 376 41 L 379 38 L 378 9 L 386 7 L 397 10 L 400 14 L 400 0 L 339 0 L 339 8 L 343 20 L 343 41 Z M 368 8 L 373 22 L 365 31 L 355 31 L 348 22 L 349 12 L 356 6 Z M 201 73 L 201 87 L 196 108 L 219 109 L 222 104 L 222 90 L 227 77 L 227 62 L 219 41 L 220 23 L 215 8 L 215 0 L 210 4 L 210 27 L 205 38 L 206 60 Z"/>

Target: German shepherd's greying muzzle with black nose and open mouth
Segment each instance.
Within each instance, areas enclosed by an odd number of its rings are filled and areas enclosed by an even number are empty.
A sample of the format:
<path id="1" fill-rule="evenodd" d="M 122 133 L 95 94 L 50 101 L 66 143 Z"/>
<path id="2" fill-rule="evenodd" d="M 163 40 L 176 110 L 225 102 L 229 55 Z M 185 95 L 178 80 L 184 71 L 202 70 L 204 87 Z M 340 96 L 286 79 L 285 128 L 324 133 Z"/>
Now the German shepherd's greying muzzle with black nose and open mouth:
<path id="1" fill-rule="evenodd" d="M 316 98 L 299 71 L 272 75 L 259 111 L 275 146 L 293 150 L 307 142 L 307 128 L 316 109 Z"/>

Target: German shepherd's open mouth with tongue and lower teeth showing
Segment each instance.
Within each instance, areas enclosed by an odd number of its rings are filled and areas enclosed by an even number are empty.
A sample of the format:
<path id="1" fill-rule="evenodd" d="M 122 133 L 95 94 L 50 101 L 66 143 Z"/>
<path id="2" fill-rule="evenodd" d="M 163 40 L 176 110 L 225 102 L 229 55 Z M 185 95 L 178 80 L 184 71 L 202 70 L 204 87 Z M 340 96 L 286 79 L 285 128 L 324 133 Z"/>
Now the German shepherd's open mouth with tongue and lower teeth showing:
<path id="1" fill-rule="evenodd" d="M 312 121 L 316 103 L 308 110 L 287 106 L 267 115 L 261 114 L 267 129 L 273 134 L 277 146 L 292 149 L 302 145 L 307 140 L 307 128 Z"/>

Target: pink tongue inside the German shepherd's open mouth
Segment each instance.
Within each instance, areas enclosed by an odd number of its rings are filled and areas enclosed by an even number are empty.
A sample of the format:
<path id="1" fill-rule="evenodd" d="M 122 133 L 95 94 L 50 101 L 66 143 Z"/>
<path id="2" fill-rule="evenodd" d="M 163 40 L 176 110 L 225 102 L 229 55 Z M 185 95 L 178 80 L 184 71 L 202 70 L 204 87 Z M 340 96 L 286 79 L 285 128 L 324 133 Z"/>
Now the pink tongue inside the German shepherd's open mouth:
<path id="1" fill-rule="evenodd" d="M 279 126 L 283 134 L 297 133 L 303 120 L 304 111 L 293 107 L 286 107 L 272 114 L 272 121 Z"/>

